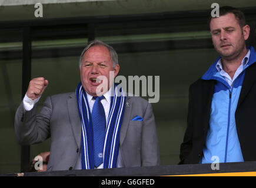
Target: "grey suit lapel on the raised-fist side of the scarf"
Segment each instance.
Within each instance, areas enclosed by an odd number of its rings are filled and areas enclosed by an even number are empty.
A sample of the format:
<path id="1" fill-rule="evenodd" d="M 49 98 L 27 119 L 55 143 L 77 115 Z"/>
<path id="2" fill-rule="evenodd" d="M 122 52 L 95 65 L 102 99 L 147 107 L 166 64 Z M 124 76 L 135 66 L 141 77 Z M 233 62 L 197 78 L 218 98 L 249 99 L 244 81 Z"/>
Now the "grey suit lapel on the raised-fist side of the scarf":
<path id="1" fill-rule="evenodd" d="M 75 141 L 77 142 L 77 146 L 80 148 L 81 145 L 81 120 L 78 113 L 77 107 L 77 98 L 75 93 L 72 93 L 67 99 L 68 104 L 68 115 L 71 123 L 71 128 L 73 135 L 75 137 Z"/>

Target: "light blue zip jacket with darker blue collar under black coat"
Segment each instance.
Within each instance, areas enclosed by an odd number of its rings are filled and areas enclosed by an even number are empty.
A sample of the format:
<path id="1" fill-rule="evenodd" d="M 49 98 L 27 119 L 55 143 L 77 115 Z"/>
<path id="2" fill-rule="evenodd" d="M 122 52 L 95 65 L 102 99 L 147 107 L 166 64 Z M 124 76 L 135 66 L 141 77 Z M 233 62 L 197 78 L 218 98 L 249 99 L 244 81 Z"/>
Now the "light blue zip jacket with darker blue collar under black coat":
<path id="1" fill-rule="evenodd" d="M 244 161 L 235 124 L 235 110 L 237 109 L 245 71 L 248 66 L 255 62 L 255 58 L 251 58 L 251 56 L 255 57 L 255 51 L 252 46 L 250 47 L 250 52 L 250 58 L 244 65 L 241 63 L 241 66 L 243 66 L 242 72 L 235 78 L 231 86 L 228 85 L 216 68 L 217 62 L 221 58 L 220 56 L 202 76 L 202 79 L 205 80 L 216 80 L 216 84 L 211 103 L 210 127 L 201 163 Z"/>

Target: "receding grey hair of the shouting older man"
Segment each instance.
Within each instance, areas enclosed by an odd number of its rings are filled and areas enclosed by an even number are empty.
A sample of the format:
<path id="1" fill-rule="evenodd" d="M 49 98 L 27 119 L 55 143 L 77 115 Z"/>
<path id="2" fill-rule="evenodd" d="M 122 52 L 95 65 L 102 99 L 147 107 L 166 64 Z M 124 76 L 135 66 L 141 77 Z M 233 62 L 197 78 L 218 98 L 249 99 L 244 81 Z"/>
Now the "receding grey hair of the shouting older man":
<path id="1" fill-rule="evenodd" d="M 113 67 L 115 67 L 115 65 L 118 64 L 118 56 L 117 56 L 117 52 L 114 50 L 114 48 L 112 48 L 112 46 L 107 45 L 107 43 L 104 43 L 104 42 L 98 41 L 98 40 L 94 40 L 94 41 L 89 42 L 88 45 L 85 47 L 85 49 L 82 51 L 80 58 L 79 58 L 79 68 L 81 68 L 81 63 L 82 63 L 82 58 L 84 56 L 84 53 L 86 51 L 88 51 L 88 49 L 91 48 L 92 46 L 97 46 L 97 45 L 105 46 L 108 48 Z"/>

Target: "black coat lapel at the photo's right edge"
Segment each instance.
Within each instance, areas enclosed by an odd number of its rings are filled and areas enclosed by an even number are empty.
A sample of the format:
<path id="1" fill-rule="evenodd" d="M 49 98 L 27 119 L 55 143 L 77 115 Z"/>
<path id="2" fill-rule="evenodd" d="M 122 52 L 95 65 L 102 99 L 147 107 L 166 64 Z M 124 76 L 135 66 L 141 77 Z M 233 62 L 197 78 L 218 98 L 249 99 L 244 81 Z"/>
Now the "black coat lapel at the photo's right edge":
<path id="1" fill-rule="evenodd" d="M 245 70 L 245 76 L 244 76 L 244 82 L 242 82 L 242 88 L 240 97 L 238 100 L 237 108 L 240 106 L 242 101 L 245 99 L 247 94 L 250 92 L 252 85 L 254 85 L 254 82 L 256 80 L 256 63 L 253 63 L 251 66 L 249 66 Z"/>

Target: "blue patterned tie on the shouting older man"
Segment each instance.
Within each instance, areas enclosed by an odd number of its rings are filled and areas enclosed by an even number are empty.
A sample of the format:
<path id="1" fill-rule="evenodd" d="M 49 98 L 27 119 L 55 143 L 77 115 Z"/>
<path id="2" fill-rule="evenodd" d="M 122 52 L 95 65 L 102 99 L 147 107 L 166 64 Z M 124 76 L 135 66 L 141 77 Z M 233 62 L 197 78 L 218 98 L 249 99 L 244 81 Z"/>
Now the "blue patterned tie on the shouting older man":
<path id="1" fill-rule="evenodd" d="M 98 167 L 103 163 L 103 148 L 105 140 L 106 116 L 101 100 L 104 96 L 94 97 L 92 108 L 92 129 L 94 132 L 94 166 Z"/>

